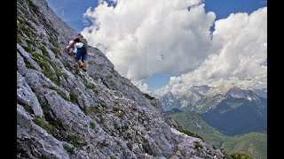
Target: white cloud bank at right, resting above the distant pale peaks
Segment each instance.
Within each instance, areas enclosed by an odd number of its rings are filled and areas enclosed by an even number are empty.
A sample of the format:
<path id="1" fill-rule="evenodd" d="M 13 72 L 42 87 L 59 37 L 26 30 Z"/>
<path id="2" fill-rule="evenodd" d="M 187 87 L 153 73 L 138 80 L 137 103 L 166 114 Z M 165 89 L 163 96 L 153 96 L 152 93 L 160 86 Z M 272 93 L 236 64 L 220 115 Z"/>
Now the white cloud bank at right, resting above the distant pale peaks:
<path id="1" fill-rule="evenodd" d="M 267 87 L 267 7 L 231 14 L 215 22 L 214 54 L 194 70 L 171 78 L 157 94 L 189 85 L 217 85 L 229 80 L 244 86 Z"/>

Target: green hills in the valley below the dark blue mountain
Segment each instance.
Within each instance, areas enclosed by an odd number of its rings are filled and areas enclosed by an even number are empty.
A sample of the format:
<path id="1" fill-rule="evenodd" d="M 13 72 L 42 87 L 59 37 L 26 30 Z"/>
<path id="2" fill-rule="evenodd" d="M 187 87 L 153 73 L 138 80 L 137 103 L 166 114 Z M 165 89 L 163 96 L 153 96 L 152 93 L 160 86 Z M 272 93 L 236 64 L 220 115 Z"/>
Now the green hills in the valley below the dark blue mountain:
<path id="1" fill-rule="evenodd" d="M 181 111 L 181 110 L 179 110 Z M 267 158 L 267 135 L 264 133 L 245 133 L 236 136 L 226 136 L 202 119 L 201 115 L 193 111 L 179 112 L 165 111 L 175 121 L 182 125 L 185 130 L 197 133 L 209 144 L 218 148 L 222 142 L 222 148 L 229 154 L 233 152 L 245 152 L 253 158 Z"/>

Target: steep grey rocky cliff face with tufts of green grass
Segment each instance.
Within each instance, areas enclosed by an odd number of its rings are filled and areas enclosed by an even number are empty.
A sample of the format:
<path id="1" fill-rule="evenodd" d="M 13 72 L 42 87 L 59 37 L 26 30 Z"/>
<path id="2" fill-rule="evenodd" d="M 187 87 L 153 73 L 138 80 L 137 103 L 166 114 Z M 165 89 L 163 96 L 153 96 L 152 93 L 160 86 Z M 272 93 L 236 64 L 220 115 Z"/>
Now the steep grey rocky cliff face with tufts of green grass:
<path id="1" fill-rule="evenodd" d="M 44 0 L 18 0 L 17 10 L 18 158 L 223 157 L 179 133 L 99 49 L 80 71 L 62 51 L 75 31 Z"/>

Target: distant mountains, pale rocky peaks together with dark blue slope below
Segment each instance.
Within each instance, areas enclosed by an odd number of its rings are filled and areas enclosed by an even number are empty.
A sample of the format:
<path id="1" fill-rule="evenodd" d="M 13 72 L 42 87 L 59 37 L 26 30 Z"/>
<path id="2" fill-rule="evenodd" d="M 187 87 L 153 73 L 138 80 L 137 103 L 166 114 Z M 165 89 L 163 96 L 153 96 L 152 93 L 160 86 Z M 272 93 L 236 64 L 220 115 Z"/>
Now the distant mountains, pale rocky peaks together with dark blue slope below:
<path id="1" fill-rule="evenodd" d="M 249 132 L 265 133 L 267 129 L 267 99 L 252 90 L 230 83 L 217 87 L 192 87 L 188 95 L 162 95 L 164 110 L 192 110 L 225 135 Z M 201 90 L 201 91 L 200 91 Z M 265 89 L 258 94 L 264 95 Z"/>

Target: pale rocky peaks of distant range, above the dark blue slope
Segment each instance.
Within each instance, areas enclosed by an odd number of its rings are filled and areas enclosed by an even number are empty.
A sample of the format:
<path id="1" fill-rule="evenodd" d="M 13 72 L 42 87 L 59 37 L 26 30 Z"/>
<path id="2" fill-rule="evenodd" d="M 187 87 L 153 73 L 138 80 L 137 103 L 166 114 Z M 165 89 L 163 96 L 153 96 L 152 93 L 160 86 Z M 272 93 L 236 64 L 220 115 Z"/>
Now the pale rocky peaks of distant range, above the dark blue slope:
<path id="1" fill-rule="evenodd" d="M 214 108 L 225 96 L 231 95 L 234 98 L 245 98 L 255 100 L 259 97 L 267 97 L 267 89 L 252 89 L 244 86 L 237 86 L 224 82 L 217 87 L 193 86 L 183 93 L 168 92 L 159 97 L 162 109 L 192 110 L 198 113 L 205 113 Z"/>

